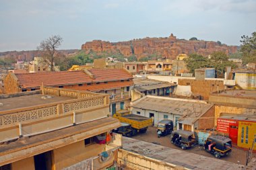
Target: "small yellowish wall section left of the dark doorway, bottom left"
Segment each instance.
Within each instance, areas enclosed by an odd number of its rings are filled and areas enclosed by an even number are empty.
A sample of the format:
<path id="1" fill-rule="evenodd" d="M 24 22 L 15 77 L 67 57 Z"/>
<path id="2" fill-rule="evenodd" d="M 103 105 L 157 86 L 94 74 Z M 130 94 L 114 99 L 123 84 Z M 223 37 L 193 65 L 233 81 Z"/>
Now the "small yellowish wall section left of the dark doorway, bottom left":
<path id="1" fill-rule="evenodd" d="M 11 170 L 34 170 L 34 157 L 11 163 Z"/>

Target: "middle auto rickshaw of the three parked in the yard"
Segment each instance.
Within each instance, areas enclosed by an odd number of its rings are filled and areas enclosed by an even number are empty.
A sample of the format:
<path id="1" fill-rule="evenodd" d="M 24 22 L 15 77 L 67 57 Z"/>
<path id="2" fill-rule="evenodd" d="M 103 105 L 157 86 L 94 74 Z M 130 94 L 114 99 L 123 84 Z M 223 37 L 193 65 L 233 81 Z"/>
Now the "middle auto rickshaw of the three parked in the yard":
<path id="1" fill-rule="evenodd" d="M 182 149 L 190 148 L 196 143 L 195 134 L 186 130 L 175 130 L 170 135 L 170 142 L 180 146 Z"/>

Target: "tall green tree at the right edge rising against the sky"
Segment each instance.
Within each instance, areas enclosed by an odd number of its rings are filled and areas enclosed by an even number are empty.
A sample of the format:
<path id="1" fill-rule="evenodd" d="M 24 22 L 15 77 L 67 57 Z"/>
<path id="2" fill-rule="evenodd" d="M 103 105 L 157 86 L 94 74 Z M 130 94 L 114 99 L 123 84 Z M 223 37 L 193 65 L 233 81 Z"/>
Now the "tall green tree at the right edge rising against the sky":
<path id="1" fill-rule="evenodd" d="M 243 52 L 243 64 L 247 64 L 248 62 L 256 61 L 256 32 L 249 36 L 241 36 L 243 44 L 241 45 L 241 52 Z"/>

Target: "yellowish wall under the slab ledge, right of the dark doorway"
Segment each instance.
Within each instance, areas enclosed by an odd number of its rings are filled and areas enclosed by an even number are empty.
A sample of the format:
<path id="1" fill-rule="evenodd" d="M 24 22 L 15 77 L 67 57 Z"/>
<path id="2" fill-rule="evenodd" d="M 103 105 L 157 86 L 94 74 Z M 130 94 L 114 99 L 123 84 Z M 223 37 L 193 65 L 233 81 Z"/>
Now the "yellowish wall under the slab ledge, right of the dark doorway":
<path id="1" fill-rule="evenodd" d="M 90 144 L 89 146 L 85 146 L 84 140 L 82 140 L 54 149 L 53 162 L 55 163 L 55 170 L 60 170 L 90 157 L 97 156 L 104 151 L 104 147 L 104 144 Z"/>

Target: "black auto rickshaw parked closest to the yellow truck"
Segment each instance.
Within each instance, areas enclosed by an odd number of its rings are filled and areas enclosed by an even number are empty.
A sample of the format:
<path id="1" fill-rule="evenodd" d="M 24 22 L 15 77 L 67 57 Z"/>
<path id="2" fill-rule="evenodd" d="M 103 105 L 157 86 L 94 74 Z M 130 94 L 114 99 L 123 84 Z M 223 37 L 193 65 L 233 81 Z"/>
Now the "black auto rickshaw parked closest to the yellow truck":
<path id="1" fill-rule="evenodd" d="M 158 132 L 158 138 L 160 136 L 165 136 L 167 134 L 170 134 L 173 130 L 173 122 L 172 120 L 161 120 L 158 122 L 158 127 L 156 129 L 156 132 Z"/>

